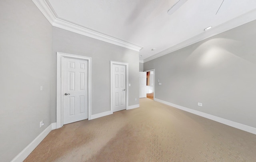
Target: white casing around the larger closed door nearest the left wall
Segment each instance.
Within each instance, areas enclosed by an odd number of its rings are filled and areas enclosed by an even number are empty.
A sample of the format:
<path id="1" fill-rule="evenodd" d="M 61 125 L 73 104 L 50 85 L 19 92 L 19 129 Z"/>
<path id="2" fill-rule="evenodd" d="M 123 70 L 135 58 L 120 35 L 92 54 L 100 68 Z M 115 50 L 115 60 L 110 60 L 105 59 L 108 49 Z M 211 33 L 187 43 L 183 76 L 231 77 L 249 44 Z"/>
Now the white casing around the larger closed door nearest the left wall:
<path id="1" fill-rule="evenodd" d="M 73 58 L 80 60 L 88 60 L 88 120 L 91 119 L 92 115 L 92 58 L 74 54 L 66 54 L 57 52 L 57 98 L 56 98 L 56 128 L 63 126 L 63 94 L 64 94 L 64 58 Z"/>

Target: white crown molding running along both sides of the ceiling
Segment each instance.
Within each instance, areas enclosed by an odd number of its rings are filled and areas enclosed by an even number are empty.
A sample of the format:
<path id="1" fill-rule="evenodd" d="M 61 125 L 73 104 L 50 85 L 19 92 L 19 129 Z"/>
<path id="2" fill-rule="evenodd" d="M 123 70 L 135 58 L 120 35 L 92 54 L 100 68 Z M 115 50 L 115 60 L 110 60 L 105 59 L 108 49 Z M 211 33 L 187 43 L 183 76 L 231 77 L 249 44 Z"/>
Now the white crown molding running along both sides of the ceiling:
<path id="1" fill-rule="evenodd" d="M 140 47 L 140 46 L 131 44 L 129 42 L 125 42 L 124 40 L 120 40 L 120 39 L 114 38 L 112 36 L 108 36 L 107 34 L 100 33 L 98 31 L 90 29 L 86 26 L 82 26 L 81 24 L 76 24 L 74 22 L 71 22 L 69 20 L 59 17 L 56 14 L 56 12 L 54 12 L 54 10 L 48 0 L 32 0 L 32 1 L 34 2 L 34 4 L 36 4 L 36 6 L 42 12 L 42 14 L 46 17 L 46 19 L 52 24 L 52 26 L 62 28 L 65 30 L 69 30 L 71 32 L 82 34 L 84 36 L 88 36 L 88 37 L 95 38 L 98 40 L 102 40 L 104 42 L 122 46 L 124 48 L 128 48 L 128 49 L 135 50 L 138 52 L 142 49 L 142 47 Z M 232 20 L 229 20 L 227 22 L 224 22 L 218 26 L 213 26 L 208 31 L 202 30 L 202 32 L 200 34 L 198 34 L 188 40 L 185 40 L 184 42 L 180 42 L 179 44 L 171 46 L 171 47 L 167 48 L 166 50 L 163 50 L 162 52 L 159 52 L 159 53 L 157 53 L 153 56 L 150 56 L 141 61 L 143 63 L 148 62 L 150 60 L 164 56 L 166 54 L 169 54 L 171 52 L 174 52 L 176 50 L 179 50 L 181 48 L 184 48 L 186 46 L 194 44 L 196 42 L 200 42 L 202 40 L 205 40 L 207 38 L 210 38 L 212 36 L 220 34 L 222 32 L 226 32 L 227 30 L 236 28 L 240 25 L 246 24 L 253 20 L 256 20 L 256 10 L 251 10 L 241 16 L 238 16 L 238 17 L 236 17 Z"/>

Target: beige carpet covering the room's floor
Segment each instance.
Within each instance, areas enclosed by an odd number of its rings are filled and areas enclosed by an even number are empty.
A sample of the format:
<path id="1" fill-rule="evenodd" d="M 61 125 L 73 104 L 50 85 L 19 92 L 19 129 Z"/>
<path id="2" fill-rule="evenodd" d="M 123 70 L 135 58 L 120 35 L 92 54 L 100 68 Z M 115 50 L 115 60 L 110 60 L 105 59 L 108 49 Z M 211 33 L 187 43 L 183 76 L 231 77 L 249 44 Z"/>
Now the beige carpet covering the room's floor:
<path id="1" fill-rule="evenodd" d="M 52 130 L 25 162 L 255 162 L 256 135 L 148 98 Z"/>

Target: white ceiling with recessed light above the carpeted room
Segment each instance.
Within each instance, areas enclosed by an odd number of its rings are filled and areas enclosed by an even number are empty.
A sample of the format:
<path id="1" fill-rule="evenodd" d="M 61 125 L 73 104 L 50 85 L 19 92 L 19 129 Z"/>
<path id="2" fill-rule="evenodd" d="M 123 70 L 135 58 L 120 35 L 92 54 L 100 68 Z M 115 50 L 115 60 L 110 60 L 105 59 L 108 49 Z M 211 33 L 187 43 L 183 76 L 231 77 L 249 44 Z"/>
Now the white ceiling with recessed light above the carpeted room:
<path id="1" fill-rule="evenodd" d="M 142 47 L 140 60 L 145 62 L 256 19 L 256 0 L 224 0 L 223 4 L 222 1 L 188 0 L 172 15 L 167 11 L 178 0 L 48 0 L 47 3 L 62 20 Z M 212 26 L 211 33 L 204 31 L 208 26 Z"/>

